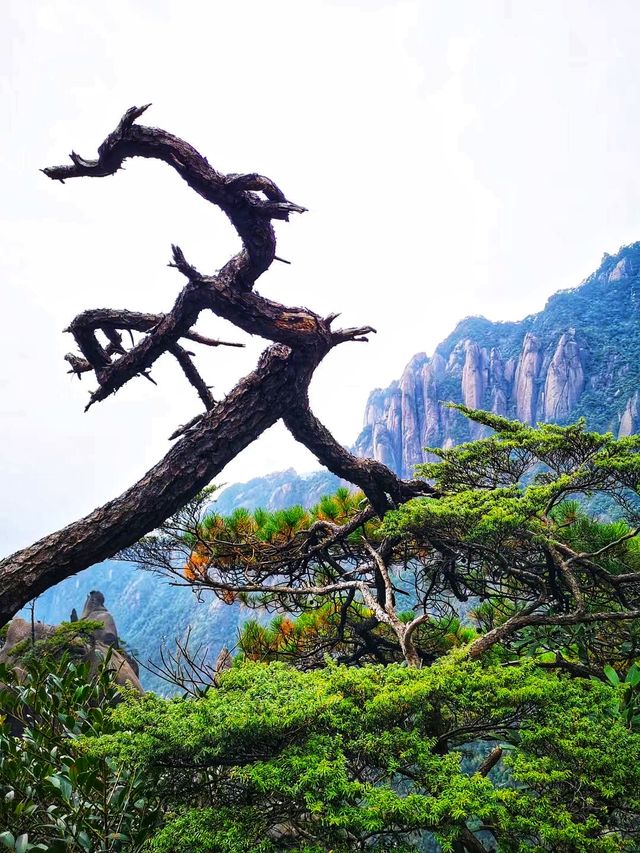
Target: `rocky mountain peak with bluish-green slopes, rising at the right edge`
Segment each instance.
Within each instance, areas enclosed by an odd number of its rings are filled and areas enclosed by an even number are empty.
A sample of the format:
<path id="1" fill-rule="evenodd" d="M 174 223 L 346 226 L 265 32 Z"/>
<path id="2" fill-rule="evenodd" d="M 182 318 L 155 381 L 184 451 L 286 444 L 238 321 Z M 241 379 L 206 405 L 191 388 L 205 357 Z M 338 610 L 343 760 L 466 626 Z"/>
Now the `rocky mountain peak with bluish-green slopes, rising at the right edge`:
<path id="1" fill-rule="evenodd" d="M 414 356 L 398 382 L 375 390 L 355 445 L 403 476 L 425 447 L 480 437 L 443 401 L 527 424 L 587 418 L 593 429 L 640 431 L 640 243 L 605 255 L 580 287 L 519 323 L 463 320 L 431 358 Z"/>

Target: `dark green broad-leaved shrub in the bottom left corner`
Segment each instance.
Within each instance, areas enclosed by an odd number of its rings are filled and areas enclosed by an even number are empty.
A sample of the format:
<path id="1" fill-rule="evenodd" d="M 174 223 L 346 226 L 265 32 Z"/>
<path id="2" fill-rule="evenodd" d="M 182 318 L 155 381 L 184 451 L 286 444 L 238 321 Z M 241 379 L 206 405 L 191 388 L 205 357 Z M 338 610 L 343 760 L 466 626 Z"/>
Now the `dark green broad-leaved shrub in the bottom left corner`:
<path id="1" fill-rule="evenodd" d="M 69 633 L 51 654 L 34 649 L 18 669 L 0 666 L 0 842 L 17 853 L 139 850 L 157 821 L 155 798 L 136 770 L 78 748 L 82 736 L 112 730 L 121 688 L 108 658 L 92 668 L 58 653 Z"/>

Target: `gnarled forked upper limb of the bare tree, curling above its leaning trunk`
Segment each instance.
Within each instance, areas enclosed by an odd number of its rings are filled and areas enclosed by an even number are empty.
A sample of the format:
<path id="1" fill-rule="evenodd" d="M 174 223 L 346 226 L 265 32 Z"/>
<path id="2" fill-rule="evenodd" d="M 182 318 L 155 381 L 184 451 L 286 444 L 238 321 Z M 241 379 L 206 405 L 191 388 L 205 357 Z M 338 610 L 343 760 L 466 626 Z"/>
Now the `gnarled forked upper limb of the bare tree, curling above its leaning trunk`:
<path id="1" fill-rule="evenodd" d="M 185 260 L 182 251 L 174 247 L 173 266 L 187 277 L 187 284 L 171 311 L 145 329 L 146 337 L 126 354 L 120 353 L 116 361 L 110 358 L 114 351 L 107 352 L 95 334 L 96 314 L 100 312 L 84 312 L 76 317 L 69 331 L 100 385 L 87 408 L 106 399 L 134 376 L 146 374 L 164 352 L 190 334 L 191 326 L 205 309 L 236 323 L 250 334 L 289 346 L 315 346 L 318 336 L 324 338 L 325 351 L 339 343 L 331 340 L 328 324 L 307 309 L 285 309 L 251 293 L 255 280 L 275 257 L 276 241 L 271 220 L 288 219 L 289 213 L 302 213 L 305 208 L 287 201 L 268 178 L 257 174 L 223 175 L 184 140 L 158 128 L 135 124 L 148 106 L 127 110 L 113 133 L 98 148 L 96 160 L 87 160 L 72 152 L 71 165 L 49 167 L 43 172 L 49 178 L 64 182 L 67 178 L 112 175 L 129 157 L 162 160 L 199 195 L 227 214 L 242 240 L 243 249 L 218 275 L 207 277 L 198 273 Z M 266 199 L 257 195 L 258 192 Z M 140 317 L 125 319 L 135 323 Z M 127 327 L 136 328 L 135 325 L 124 326 Z M 104 328 L 109 328 L 109 324 Z M 78 376 L 84 372 L 79 369 L 81 365 L 75 356 L 68 361 Z"/>

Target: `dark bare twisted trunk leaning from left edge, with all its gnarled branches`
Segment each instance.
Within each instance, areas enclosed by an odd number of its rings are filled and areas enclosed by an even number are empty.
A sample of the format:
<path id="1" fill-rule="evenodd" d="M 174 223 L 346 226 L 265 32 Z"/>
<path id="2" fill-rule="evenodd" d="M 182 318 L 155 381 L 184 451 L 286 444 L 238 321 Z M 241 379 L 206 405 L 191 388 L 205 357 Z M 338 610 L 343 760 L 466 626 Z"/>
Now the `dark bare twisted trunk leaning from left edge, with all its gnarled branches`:
<path id="1" fill-rule="evenodd" d="M 96 377 L 98 388 L 89 408 L 136 376 L 151 378 L 149 371 L 157 359 L 172 355 L 196 389 L 204 412 L 174 433 L 178 441 L 167 455 L 122 495 L 0 562 L 0 625 L 34 596 L 153 530 L 279 419 L 329 470 L 359 485 L 378 513 L 429 492 L 426 484 L 405 483 L 384 465 L 347 453 L 309 409 L 308 385 L 324 356 L 340 343 L 366 340 L 374 330 L 364 326 L 334 331 L 331 324 L 336 314 L 323 318 L 307 308 L 280 305 L 253 292 L 258 277 L 276 258 L 272 220 L 288 220 L 291 213 L 303 213 L 305 208 L 288 201 L 269 178 L 256 173 L 224 175 L 178 137 L 136 124 L 147 107 L 127 110 L 98 148 L 96 159 L 72 152 L 71 164 L 44 169 L 45 175 L 61 182 L 100 178 L 115 174 L 128 158 L 162 160 L 228 216 L 242 248 L 216 275 L 208 276 L 174 246 L 172 265 L 186 284 L 171 310 L 162 315 L 85 311 L 68 328 L 81 354 L 69 354 L 66 359 L 70 372 L 79 378 L 89 372 Z M 271 342 L 255 370 L 218 403 L 180 343 L 186 339 L 209 346 L 238 346 L 213 341 L 194 330 L 205 310 Z M 98 331 L 105 334 L 106 347 Z M 137 343 L 133 331 L 143 334 Z M 128 350 L 123 332 L 131 334 Z"/>

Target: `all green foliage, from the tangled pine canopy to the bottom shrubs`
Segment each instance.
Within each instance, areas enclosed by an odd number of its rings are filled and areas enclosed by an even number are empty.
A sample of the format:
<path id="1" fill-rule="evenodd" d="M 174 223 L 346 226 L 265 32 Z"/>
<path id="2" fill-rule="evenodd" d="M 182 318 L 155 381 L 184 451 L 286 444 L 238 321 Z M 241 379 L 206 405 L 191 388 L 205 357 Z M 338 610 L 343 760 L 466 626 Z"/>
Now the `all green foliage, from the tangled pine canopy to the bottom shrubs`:
<path id="1" fill-rule="evenodd" d="M 259 618 L 182 698 L 123 696 L 60 638 L 0 673 L 0 841 L 640 849 L 640 437 L 462 412 L 493 435 L 433 450 L 434 494 L 384 519 L 346 489 L 224 517 L 208 492 L 141 542 Z"/>

